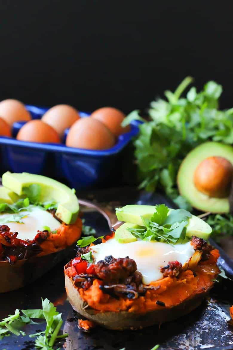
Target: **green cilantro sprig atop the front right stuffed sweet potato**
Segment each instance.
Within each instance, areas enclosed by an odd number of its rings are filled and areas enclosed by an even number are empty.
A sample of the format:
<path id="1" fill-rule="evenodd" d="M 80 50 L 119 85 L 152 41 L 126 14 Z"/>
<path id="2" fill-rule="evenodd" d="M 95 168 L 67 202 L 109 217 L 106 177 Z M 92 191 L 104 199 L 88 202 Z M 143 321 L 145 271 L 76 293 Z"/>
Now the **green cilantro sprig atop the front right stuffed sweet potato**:
<path id="1" fill-rule="evenodd" d="M 141 216 L 144 228 L 128 228 L 128 230 L 133 236 L 142 240 L 156 240 L 173 245 L 179 239 L 185 239 L 185 226 L 188 224 L 189 217 L 191 214 L 187 210 L 177 209 L 169 212 L 165 204 L 159 204 L 155 205 L 155 212 L 150 220 Z"/>

